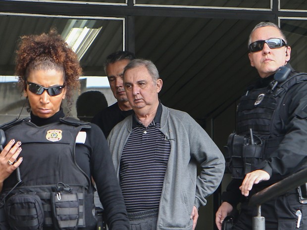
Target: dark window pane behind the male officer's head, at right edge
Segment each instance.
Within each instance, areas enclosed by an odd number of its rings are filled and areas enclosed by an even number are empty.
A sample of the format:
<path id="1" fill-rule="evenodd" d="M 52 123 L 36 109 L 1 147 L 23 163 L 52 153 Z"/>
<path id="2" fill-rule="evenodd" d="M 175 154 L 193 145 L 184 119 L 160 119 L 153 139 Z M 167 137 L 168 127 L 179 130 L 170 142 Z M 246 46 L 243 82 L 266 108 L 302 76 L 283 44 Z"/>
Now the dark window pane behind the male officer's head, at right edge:
<path id="1" fill-rule="evenodd" d="M 280 27 L 292 48 L 291 65 L 297 71 L 307 72 L 307 20 L 283 19 L 280 20 Z"/>

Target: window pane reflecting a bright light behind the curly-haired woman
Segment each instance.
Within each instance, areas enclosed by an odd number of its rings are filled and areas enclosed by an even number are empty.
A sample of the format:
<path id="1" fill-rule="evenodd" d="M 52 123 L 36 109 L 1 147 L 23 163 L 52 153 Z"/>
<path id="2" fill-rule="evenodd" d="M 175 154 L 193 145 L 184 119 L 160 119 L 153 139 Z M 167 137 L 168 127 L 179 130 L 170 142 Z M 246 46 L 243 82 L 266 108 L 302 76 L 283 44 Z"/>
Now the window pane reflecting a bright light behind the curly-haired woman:
<path id="1" fill-rule="evenodd" d="M 97 76 L 101 78 L 105 76 L 103 62 L 106 56 L 124 47 L 123 19 L 2 15 L 0 21 L 0 124 L 18 117 L 20 113 L 21 117 L 29 116 L 26 109 L 27 103 L 14 77 L 15 50 L 20 36 L 48 33 L 51 28 L 55 28 L 63 38 L 67 37 L 67 43 L 68 40 L 71 42 L 70 46 L 79 56 L 83 75 L 95 76 L 96 79 Z M 69 38 L 69 34 L 74 34 L 74 36 Z M 82 37 L 82 35 L 85 36 Z M 87 90 L 87 87 L 83 86 L 81 92 Z M 77 96 L 78 94 L 76 98 Z M 23 105 L 25 108 L 22 110 Z M 76 116 L 75 108 L 72 108 L 72 115 Z"/>

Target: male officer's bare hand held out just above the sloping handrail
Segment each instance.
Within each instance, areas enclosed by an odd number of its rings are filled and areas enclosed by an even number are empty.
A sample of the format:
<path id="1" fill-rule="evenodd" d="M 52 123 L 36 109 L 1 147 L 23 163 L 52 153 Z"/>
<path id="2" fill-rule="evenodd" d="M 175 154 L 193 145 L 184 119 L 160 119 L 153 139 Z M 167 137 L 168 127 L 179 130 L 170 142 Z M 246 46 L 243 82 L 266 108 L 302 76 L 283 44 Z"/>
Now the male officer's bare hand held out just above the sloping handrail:
<path id="1" fill-rule="evenodd" d="M 243 183 L 239 187 L 242 192 L 242 195 L 248 196 L 254 184 L 258 184 L 261 181 L 268 181 L 269 179 L 270 175 L 267 172 L 260 169 L 248 173 L 245 176 Z"/>

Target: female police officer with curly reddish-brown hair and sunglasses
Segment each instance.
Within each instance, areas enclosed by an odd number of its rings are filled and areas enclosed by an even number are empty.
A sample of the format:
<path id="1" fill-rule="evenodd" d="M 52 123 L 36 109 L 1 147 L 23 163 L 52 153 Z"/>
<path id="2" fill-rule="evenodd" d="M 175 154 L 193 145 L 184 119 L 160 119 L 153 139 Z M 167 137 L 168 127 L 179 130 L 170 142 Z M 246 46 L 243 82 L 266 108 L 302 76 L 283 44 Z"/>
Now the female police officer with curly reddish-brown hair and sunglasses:
<path id="1" fill-rule="evenodd" d="M 102 131 L 61 108 L 64 98 L 72 104 L 81 73 L 77 55 L 55 31 L 21 38 L 16 75 L 31 117 L 0 126 L 0 230 L 101 228 L 92 178 L 109 229 L 129 229 Z"/>

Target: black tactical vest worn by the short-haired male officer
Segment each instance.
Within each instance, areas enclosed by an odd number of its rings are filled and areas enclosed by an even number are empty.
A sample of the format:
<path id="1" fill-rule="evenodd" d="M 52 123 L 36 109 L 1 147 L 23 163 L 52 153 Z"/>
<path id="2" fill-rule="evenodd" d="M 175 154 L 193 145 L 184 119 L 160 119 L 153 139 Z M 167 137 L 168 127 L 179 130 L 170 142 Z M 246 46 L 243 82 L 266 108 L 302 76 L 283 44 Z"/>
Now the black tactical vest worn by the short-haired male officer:
<path id="1" fill-rule="evenodd" d="M 272 156 L 285 133 L 274 126 L 280 116 L 281 103 L 294 85 L 307 81 L 305 73 L 290 74 L 287 80 L 271 91 L 252 89 L 240 99 L 237 107 L 236 133 L 228 138 L 226 168 L 233 178 L 243 179 L 264 159 Z"/>

